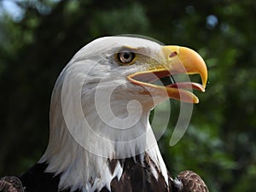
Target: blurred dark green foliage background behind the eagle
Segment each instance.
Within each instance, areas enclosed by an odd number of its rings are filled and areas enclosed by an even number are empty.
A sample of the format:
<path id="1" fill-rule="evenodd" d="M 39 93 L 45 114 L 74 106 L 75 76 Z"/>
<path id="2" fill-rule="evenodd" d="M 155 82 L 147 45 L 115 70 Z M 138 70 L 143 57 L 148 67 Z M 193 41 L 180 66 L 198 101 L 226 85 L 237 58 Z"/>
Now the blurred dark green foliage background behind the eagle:
<path id="1" fill-rule="evenodd" d="M 212 192 L 256 189 L 255 0 L 9 1 L 22 13 L 0 20 L 0 175 L 44 153 L 51 90 L 74 53 L 98 37 L 136 33 L 196 49 L 207 62 L 207 92 L 196 93 L 189 130 L 169 147 L 179 113 L 172 102 L 159 142 L 172 175 L 198 172 Z"/>

